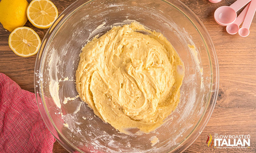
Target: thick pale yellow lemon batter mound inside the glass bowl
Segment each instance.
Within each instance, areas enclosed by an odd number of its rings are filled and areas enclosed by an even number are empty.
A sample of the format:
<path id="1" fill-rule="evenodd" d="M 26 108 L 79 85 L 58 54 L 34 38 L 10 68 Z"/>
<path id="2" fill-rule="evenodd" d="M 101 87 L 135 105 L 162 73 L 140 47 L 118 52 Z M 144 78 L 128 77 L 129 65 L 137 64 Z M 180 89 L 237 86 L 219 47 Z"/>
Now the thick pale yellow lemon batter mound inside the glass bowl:
<path id="1" fill-rule="evenodd" d="M 183 62 L 171 43 L 132 22 L 83 47 L 77 91 L 98 117 L 119 131 L 151 132 L 179 103 L 184 73 L 178 68 L 184 69 Z"/>

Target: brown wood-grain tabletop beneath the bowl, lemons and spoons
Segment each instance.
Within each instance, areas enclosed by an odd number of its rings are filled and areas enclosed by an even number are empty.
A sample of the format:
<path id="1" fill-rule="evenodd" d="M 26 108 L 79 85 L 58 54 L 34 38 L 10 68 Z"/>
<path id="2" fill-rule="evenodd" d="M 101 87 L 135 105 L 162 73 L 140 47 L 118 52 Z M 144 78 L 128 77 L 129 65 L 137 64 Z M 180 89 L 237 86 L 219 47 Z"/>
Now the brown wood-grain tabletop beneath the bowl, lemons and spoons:
<path id="1" fill-rule="evenodd" d="M 31 0 L 28 0 L 29 2 Z M 256 19 L 250 35 L 242 38 L 229 35 L 225 27 L 213 19 L 215 9 L 230 5 L 235 0 L 213 4 L 207 0 L 181 0 L 201 19 L 216 48 L 220 67 L 220 88 L 217 104 L 207 126 L 197 140 L 185 151 L 190 152 L 256 152 Z M 75 0 L 52 0 L 61 13 Z M 27 22 L 43 39 L 47 29 L 38 29 Z M 34 66 L 36 55 L 23 58 L 15 55 L 8 46 L 10 32 L 0 25 L 0 72 L 5 73 L 22 89 L 34 92 Z M 207 135 L 250 134 L 250 148 L 218 149 L 207 146 Z M 54 153 L 66 153 L 57 141 Z"/>

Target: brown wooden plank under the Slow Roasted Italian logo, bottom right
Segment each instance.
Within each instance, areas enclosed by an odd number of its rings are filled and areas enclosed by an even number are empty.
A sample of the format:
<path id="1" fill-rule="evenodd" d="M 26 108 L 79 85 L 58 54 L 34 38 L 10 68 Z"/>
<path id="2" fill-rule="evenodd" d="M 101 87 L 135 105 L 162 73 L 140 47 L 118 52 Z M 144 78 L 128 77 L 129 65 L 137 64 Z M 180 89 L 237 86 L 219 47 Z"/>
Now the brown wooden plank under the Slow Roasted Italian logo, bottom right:
<path id="1" fill-rule="evenodd" d="M 256 110 L 255 108 L 227 108 L 216 106 L 210 121 L 203 133 L 185 151 L 190 152 L 256 152 Z M 240 149 L 216 149 L 207 146 L 207 135 L 239 135 L 250 134 L 251 148 Z"/>

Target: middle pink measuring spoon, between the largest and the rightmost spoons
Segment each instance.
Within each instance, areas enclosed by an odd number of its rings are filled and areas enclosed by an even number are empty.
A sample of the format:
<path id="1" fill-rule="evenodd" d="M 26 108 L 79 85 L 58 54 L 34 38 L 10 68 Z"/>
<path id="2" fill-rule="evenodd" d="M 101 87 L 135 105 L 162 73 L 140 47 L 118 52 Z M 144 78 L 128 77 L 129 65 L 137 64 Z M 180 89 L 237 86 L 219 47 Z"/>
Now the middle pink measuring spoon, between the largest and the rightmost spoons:
<path id="1" fill-rule="evenodd" d="M 251 2 L 250 2 L 251 3 Z M 239 26 L 241 25 L 241 23 L 244 21 L 245 15 L 248 11 L 248 8 L 250 6 L 250 3 L 244 8 L 244 10 L 238 15 L 237 19 L 235 22 L 227 25 L 226 30 L 227 33 L 229 33 L 230 35 L 234 35 L 238 32 L 239 30 Z"/>

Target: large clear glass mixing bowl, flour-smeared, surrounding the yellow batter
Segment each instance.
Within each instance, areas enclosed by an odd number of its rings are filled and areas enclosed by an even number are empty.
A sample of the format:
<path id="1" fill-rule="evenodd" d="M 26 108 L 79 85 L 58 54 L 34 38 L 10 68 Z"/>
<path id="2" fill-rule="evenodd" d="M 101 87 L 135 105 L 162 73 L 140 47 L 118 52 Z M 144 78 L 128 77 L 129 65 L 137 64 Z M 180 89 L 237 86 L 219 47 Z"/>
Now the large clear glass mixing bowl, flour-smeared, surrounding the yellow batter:
<path id="1" fill-rule="evenodd" d="M 184 62 L 180 103 L 161 127 L 126 135 L 76 98 L 81 48 L 113 25 L 137 21 L 161 32 Z M 213 42 L 196 15 L 172 0 L 78 0 L 46 33 L 35 66 L 35 93 L 47 127 L 70 152 L 181 152 L 206 126 L 216 103 L 219 69 Z"/>

